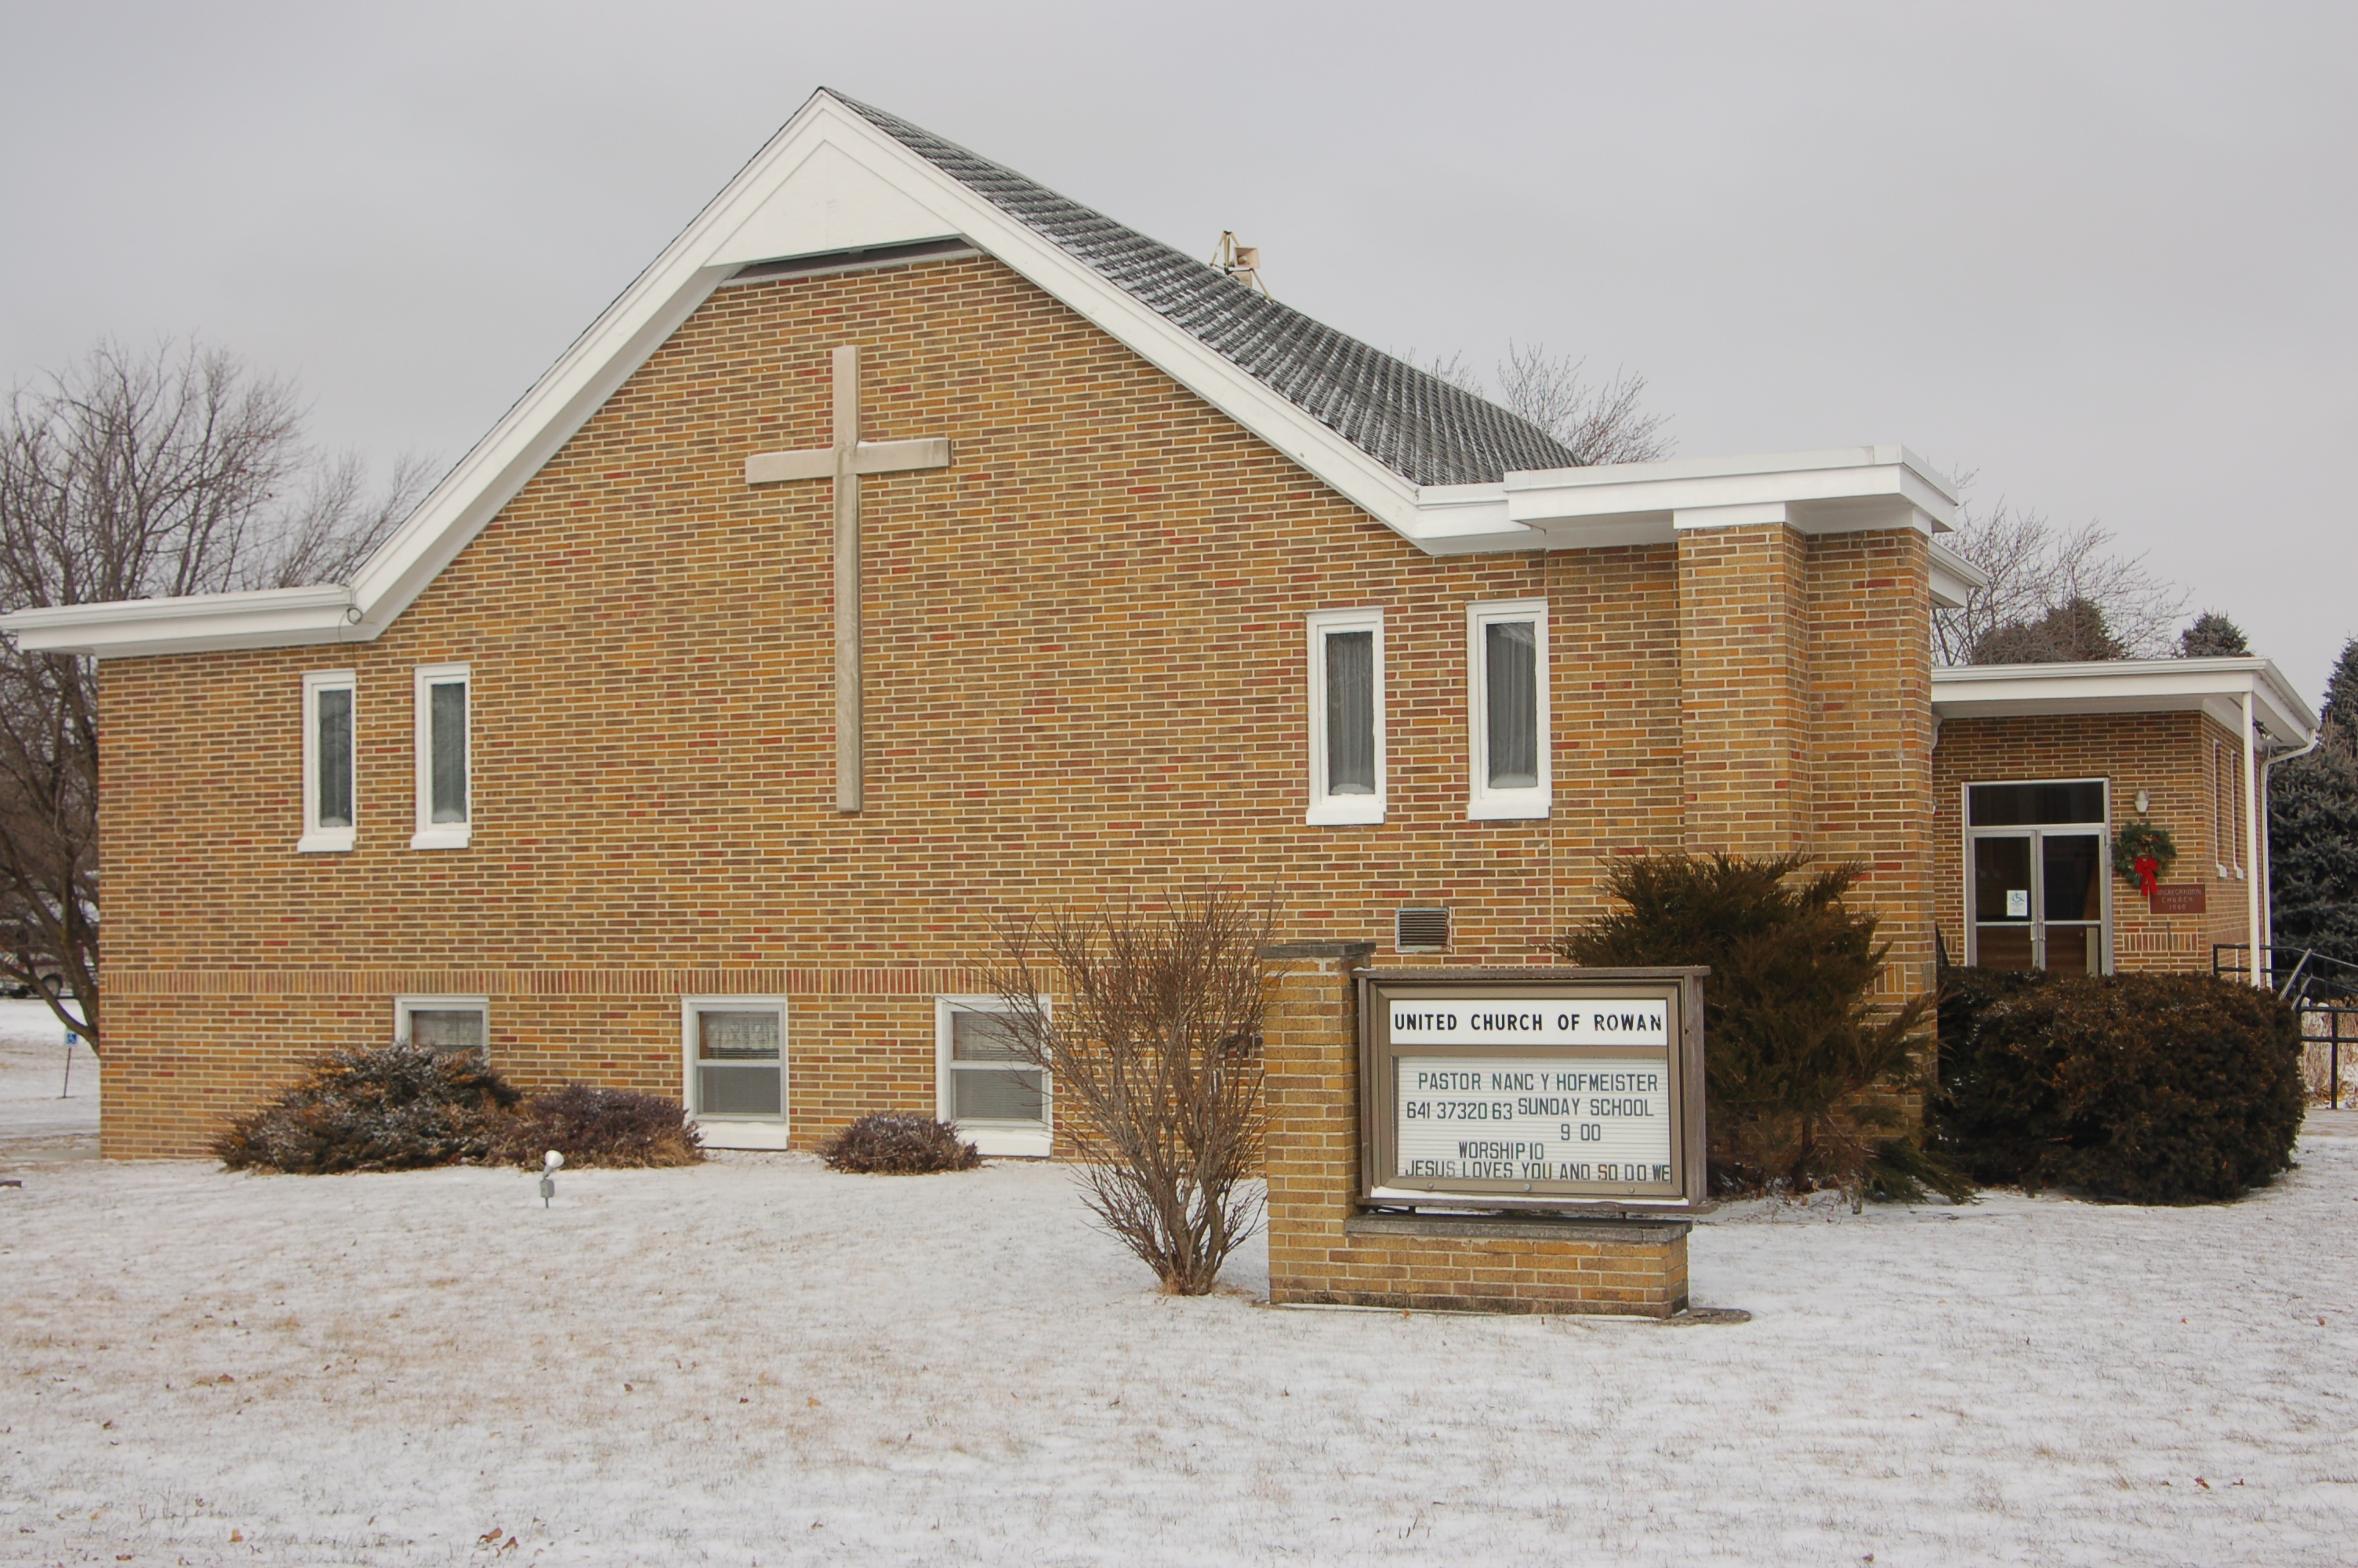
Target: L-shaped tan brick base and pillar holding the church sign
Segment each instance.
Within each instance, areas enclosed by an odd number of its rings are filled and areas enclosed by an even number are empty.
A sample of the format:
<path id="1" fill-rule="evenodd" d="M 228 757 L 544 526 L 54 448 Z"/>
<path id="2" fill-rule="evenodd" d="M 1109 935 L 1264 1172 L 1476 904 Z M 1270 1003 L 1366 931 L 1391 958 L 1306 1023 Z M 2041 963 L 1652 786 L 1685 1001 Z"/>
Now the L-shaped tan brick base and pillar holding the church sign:
<path id="1" fill-rule="evenodd" d="M 1280 1306 L 1615 1313 L 1686 1309 L 1686 1221 L 1361 1212 L 1356 946 L 1273 955 L 1262 1033 L 1269 1299 Z"/>

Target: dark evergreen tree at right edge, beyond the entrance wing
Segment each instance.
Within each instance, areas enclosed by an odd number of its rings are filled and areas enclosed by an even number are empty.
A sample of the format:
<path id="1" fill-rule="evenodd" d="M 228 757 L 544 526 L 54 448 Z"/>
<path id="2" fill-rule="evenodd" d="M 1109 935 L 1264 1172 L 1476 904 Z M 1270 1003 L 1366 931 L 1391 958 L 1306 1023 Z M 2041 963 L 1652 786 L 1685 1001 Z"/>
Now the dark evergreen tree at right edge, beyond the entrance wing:
<path id="1" fill-rule="evenodd" d="M 2275 946 L 2358 964 L 2358 637 L 2325 681 L 2318 750 L 2268 776 Z"/>

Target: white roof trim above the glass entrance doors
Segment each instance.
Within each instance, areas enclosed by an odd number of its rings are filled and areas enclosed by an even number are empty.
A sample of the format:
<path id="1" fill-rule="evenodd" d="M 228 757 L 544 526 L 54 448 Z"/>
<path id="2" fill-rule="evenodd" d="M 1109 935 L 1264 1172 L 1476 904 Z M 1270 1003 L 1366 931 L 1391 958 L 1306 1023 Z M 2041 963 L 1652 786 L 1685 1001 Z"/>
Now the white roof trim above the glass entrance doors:
<path id="1" fill-rule="evenodd" d="M 2252 717 L 2275 745 L 2301 747 L 2316 738 L 2318 714 L 2266 658 L 2125 658 L 1931 672 L 1931 710 L 1941 719 L 2202 710 L 2235 731 L 2245 693 L 2252 693 Z"/>

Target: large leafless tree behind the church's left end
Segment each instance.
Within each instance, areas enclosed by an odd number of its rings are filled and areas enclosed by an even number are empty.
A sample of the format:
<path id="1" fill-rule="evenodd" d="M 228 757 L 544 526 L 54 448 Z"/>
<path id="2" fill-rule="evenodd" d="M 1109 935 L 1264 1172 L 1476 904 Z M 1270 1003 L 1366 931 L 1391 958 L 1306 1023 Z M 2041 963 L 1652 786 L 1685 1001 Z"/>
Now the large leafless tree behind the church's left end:
<path id="1" fill-rule="evenodd" d="M 0 415 L 0 611 L 292 587 L 349 573 L 424 465 L 370 495 L 304 443 L 288 382 L 200 344 L 113 342 Z M 0 979 L 99 1047 L 97 670 L 0 648 Z M 71 1007 L 45 981 L 57 981 Z"/>

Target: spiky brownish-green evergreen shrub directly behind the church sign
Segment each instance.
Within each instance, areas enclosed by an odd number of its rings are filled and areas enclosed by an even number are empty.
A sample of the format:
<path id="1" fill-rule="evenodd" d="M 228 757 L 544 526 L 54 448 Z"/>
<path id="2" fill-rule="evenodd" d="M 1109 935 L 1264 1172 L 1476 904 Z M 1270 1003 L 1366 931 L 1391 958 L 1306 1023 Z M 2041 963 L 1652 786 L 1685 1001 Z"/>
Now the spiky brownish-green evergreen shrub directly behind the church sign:
<path id="1" fill-rule="evenodd" d="M 1721 1191 L 1842 1184 L 1922 1198 L 1969 1184 L 1924 1155 L 1891 1089 L 1922 1078 L 1931 997 L 1872 1000 L 1891 943 L 1842 903 L 1858 868 L 1797 877 L 1806 856 L 1641 856 L 1613 865 L 1622 908 L 1554 941 L 1603 969 L 1710 964 L 1702 981 L 1705 1125 Z"/>

